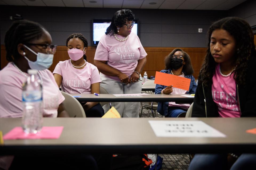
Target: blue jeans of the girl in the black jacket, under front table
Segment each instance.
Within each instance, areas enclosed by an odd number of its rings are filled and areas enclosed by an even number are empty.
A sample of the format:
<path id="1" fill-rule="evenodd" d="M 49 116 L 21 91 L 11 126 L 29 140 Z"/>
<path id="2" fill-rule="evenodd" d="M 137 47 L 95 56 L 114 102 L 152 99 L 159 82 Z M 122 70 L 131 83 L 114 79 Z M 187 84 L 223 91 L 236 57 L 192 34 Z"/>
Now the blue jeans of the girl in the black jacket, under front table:
<path id="1" fill-rule="evenodd" d="M 230 170 L 250 169 L 256 167 L 256 154 L 242 154 Z M 188 170 L 227 169 L 227 154 L 195 154 Z"/>

